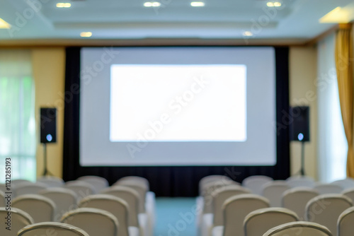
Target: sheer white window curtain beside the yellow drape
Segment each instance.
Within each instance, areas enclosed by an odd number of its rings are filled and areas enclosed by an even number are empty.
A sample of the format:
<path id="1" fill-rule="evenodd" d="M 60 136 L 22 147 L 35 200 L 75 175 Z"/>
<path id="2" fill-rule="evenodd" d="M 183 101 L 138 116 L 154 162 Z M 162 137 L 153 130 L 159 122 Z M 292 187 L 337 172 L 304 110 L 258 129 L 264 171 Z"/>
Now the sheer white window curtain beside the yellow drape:
<path id="1" fill-rule="evenodd" d="M 346 178 L 348 144 L 341 117 L 336 74 L 335 34 L 317 45 L 319 181 Z"/>

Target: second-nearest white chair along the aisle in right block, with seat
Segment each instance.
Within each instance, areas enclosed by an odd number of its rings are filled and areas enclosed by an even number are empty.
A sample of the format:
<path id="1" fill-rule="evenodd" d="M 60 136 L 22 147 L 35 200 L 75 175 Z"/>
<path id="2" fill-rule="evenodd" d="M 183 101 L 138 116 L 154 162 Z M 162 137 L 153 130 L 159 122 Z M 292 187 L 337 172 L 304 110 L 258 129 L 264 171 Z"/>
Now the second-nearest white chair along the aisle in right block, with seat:
<path id="1" fill-rule="evenodd" d="M 226 199 L 239 194 L 251 194 L 249 189 L 238 185 L 229 185 L 220 187 L 212 192 L 212 213 L 206 213 L 202 216 L 201 232 L 202 236 L 212 235 L 212 228 L 224 225 L 222 206 Z"/>

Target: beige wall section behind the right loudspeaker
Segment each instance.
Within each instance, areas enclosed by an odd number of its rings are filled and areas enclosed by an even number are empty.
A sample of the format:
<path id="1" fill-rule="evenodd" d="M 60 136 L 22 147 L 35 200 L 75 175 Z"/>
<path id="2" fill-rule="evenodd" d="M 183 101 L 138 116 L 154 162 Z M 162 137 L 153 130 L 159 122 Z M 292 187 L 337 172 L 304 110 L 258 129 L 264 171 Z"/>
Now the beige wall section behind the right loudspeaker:
<path id="1" fill-rule="evenodd" d="M 317 174 L 317 93 L 316 47 L 290 48 L 290 106 L 309 105 L 310 141 L 305 144 L 305 173 L 315 179 Z M 301 144 L 290 143 L 291 174 L 295 175 L 301 163 Z"/>

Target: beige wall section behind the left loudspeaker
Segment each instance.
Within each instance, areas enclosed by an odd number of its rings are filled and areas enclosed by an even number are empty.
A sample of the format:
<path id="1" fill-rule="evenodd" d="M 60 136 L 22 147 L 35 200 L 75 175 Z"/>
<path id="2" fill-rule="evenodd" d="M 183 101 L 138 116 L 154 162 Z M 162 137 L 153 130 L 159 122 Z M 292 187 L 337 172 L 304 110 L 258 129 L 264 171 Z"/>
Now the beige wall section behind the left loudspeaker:
<path id="1" fill-rule="evenodd" d="M 32 49 L 33 78 L 35 80 L 35 119 L 37 134 L 40 135 L 40 107 L 57 108 L 57 143 L 47 144 L 48 170 L 57 177 L 62 177 L 62 150 L 64 133 L 64 48 Z M 42 175 L 43 146 L 37 138 L 37 175 Z"/>

